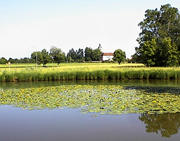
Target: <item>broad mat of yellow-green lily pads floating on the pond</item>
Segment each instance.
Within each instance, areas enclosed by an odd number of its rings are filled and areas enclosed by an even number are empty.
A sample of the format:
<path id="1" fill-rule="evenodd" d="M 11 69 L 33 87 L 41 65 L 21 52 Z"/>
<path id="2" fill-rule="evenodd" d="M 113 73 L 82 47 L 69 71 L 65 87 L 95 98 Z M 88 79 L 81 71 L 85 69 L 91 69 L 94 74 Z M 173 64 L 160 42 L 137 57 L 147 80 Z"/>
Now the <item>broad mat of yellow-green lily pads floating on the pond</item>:
<path id="1" fill-rule="evenodd" d="M 0 89 L 0 104 L 29 110 L 67 107 L 100 114 L 161 114 L 180 112 L 180 95 L 124 89 L 119 85 L 60 85 Z"/>

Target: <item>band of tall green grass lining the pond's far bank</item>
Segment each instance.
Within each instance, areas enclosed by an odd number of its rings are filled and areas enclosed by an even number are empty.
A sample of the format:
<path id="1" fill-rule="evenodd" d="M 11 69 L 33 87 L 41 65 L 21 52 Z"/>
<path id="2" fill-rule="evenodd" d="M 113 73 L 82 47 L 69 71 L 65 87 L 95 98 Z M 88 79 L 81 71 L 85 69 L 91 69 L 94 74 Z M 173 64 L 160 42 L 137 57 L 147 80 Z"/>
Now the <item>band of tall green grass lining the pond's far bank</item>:
<path id="1" fill-rule="evenodd" d="M 180 80 L 180 68 L 37 68 L 0 71 L 0 82 L 161 79 Z"/>

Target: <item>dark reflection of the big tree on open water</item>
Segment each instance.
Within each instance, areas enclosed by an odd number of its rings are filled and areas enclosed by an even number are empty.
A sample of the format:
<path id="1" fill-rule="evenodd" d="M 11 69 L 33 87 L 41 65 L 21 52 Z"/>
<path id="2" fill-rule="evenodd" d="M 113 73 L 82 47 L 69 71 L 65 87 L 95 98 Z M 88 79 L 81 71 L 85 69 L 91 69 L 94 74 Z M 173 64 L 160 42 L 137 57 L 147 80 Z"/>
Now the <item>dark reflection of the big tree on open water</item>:
<path id="1" fill-rule="evenodd" d="M 175 114 L 141 114 L 139 117 L 146 125 L 146 132 L 171 137 L 180 128 L 180 113 Z"/>

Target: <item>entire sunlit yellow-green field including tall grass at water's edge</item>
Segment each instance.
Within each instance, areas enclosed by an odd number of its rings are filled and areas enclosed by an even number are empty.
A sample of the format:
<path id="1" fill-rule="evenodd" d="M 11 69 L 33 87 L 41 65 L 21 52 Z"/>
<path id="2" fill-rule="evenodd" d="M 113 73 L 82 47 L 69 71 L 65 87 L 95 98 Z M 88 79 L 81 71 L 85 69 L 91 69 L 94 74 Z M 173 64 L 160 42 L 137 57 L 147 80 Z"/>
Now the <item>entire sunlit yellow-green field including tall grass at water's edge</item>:
<path id="1" fill-rule="evenodd" d="M 75 81 L 123 79 L 180 80 L 180 67 L 145 67 L 143 64 L 64 63 L 36 67 L 35 64 L 0 66 L 1 82 Z"/>

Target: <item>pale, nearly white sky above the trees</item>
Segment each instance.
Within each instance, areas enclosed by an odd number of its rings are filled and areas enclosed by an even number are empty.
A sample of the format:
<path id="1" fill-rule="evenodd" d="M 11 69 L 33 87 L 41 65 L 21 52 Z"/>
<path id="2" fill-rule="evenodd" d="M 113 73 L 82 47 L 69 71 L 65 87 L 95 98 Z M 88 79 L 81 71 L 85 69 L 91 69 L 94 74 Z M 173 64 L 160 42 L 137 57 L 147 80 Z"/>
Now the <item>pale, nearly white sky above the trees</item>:
<path id="1" fill-rule="evenodd" d="M 0 0 L 0 58 L 99 43 L 103 52 L 122 49 L 130 58 L 145 11 L 167 3 L 180 9 L 180 0 Z"/>

